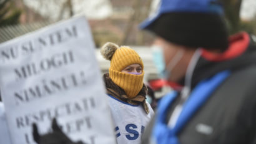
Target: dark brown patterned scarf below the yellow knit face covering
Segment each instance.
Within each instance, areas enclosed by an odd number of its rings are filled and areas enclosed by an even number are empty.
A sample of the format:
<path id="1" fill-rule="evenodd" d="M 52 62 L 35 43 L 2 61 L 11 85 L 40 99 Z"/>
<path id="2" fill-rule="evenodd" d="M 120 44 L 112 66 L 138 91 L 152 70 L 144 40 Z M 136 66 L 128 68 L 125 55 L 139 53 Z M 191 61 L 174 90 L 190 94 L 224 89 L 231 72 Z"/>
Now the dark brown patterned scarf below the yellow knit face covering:
<path id="1" fill-rule="evenodd" d="M 129 98 L 126 95 L 126 92 L 124 92 L 124 90 L 121 87 L 116 85 L 111 80 L 111 78 L 109 77 L 109 73 L 104 74 L 103 79 L 106 85 L 107 94 L 132 105 L 139 105 L 141 103 L 145 110 L 145 113 L 149 113 L 149 107 L 147 106 L 147 103 L 145 101 L 145 96 L 147 95 L 147 86 L 145 84 L 143 84 L 142 89 L 140 90 L 139 94 L 137 94 L 136 97 Z"/>

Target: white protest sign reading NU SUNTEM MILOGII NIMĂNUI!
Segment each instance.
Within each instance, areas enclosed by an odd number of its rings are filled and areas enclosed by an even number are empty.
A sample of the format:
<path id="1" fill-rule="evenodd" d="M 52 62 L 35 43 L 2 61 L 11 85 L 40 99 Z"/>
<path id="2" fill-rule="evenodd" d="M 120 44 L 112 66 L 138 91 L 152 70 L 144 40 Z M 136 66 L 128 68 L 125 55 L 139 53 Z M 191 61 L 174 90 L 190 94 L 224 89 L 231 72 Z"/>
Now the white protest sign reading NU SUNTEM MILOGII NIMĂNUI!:
<path id="1" fill-rule="evenodd" d="M 34 144 L 52 118 L 74 142 L 116 143 L 111 112 L 85 17 L 0 45 L 0 89 L 13 144 Z"/>

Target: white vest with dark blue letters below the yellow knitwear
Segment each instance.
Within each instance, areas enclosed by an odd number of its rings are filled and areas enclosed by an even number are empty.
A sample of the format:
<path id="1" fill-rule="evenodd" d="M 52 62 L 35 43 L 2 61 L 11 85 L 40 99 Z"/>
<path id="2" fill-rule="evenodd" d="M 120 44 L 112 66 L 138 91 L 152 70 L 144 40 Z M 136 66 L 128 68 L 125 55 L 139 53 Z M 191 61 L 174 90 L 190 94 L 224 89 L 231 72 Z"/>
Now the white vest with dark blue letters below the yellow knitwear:
<path id="1" fill-rule="evenodd" d="M 142 105 L 130 105 L 112 96 L 109 96 L 109 105 L 114 119 L 117 143 L 140 144 L 141 135 L 150 118 L 154 115 L 149 103 L 147 103 L 149 106 L 148 115 Z"/>

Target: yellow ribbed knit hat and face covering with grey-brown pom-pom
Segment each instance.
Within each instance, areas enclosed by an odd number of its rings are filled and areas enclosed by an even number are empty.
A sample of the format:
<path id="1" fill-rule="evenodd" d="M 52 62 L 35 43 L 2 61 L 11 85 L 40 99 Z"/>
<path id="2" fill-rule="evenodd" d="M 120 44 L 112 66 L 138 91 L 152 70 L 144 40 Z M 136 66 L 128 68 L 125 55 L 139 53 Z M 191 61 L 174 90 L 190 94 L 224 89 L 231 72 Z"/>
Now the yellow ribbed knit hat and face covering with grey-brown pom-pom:
<path id="1" fill-rule="evenodd" d="M 117 46 L 107 42 L 101 48 L 101 54 L 107 60 L 111 60 L 109 77 L 111 80 L 126 92 L 127 97 L 134 98 L 143 87 L 144 65 L 140 56 L 135 50 L 127 46 Z M 121 72 L 131 64 L 139 64 L 142 67 L 142 74 L 133 75 Z"/>

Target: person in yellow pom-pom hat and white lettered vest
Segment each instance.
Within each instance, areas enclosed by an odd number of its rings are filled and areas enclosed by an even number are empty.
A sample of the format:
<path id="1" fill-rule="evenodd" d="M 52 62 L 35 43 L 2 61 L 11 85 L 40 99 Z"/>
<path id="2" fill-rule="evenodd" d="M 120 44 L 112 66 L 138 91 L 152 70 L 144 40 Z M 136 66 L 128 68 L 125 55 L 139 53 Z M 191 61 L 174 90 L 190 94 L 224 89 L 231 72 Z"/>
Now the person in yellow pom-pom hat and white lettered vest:
<path id="1" fill-rule="evenodd" d="M 147 86 L 143 83 L 144 65 L 135 50 L 108 42 L 102 56 L 111 60 L 104 74 L 109 106 L 114 119 L 117 143 L 140 143 L 145 126 L 154 115 L 146 102 Z"/>

